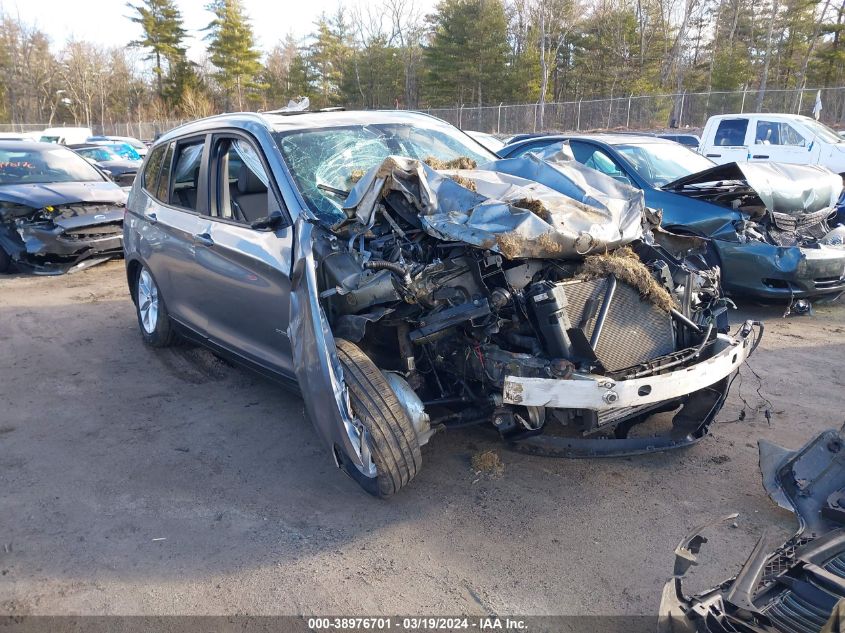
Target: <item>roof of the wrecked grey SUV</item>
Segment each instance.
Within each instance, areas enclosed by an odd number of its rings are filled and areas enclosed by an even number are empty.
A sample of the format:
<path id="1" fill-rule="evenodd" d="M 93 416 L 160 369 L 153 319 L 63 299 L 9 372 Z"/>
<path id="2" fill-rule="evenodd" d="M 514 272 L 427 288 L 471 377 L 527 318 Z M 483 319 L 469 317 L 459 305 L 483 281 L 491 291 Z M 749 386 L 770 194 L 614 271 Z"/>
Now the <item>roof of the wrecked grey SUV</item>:
<path id="1" fill-rule="evenodd" d="M 249 128 L 259 125 L 274 132 L 371 125 L 384 123 L 445 122 L 437 117 L 410 110 L 332 110 L 327 112 L 234 112 L 218 114 L 173 128 L 161 135 L 156 145 L 173 138 L 225 127 Z"/>

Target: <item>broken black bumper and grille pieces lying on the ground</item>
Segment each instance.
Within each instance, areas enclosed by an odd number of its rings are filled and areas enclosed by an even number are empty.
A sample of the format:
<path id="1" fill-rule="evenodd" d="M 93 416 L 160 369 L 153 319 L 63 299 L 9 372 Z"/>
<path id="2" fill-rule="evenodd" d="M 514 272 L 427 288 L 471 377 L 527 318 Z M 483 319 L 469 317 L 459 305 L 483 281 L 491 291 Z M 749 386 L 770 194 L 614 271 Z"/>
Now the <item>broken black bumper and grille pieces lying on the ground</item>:
<path id="1" fill-rule="evenodd" d="M 774 546 L 764 533 L 739 573 L 687 596 L 683 580 L 707 542 L 696 529 L 675 550 L 663 589 L 660 633 L 817 633 L 845 626 L 845 435 L 820 433 L 796 451 L 761 440 L 763 487 L 798 520 Z M 732 514 L 715 523 L 732 521 Z"/>

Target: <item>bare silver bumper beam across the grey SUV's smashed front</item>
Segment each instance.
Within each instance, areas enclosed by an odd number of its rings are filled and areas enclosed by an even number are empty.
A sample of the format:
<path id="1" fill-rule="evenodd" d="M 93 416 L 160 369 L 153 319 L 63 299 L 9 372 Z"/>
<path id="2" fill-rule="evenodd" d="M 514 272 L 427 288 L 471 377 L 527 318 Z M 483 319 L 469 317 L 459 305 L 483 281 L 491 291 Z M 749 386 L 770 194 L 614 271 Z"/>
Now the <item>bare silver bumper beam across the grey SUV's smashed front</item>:
<path id="1" fill-rule="evenodd" d="M 586 375 L 573 379 L 507 376 L 503 400 L 507 404 L 554 409 L 607 411 L 641 407 L 689 395 L 730 376 L 754 349 L 754 327 L 746 321 L 736 337 L 719 334 L 713 355 L 676 371 L 647 378 L 615 381 Z"/>

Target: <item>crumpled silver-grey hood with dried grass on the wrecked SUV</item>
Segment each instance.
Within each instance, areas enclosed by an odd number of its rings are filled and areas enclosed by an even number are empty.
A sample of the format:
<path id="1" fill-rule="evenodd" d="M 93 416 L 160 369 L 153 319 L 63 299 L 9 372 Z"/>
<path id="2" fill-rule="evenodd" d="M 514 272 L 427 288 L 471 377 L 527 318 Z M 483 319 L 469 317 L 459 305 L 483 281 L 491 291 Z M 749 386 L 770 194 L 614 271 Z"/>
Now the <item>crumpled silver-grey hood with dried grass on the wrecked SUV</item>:
<path id="1" fill-rule="evenodd" d="M 429 235 L 508 259 L 614 250 L 642 237 L 645 217 L 641 191 L 581 166 L 560 148 L 474 169 L 435 170 L 389 156 L 356 183 L 344 212 L 370 226 L 392 192 L 415 209 Z"/>

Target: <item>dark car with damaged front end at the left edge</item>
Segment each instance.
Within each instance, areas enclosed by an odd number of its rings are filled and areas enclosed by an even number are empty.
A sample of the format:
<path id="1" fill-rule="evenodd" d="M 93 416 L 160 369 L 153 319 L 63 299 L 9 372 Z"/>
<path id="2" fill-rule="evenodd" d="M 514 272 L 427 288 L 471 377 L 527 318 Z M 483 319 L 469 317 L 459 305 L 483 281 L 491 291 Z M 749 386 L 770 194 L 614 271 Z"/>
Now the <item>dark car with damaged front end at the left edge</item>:
<path id="1" fill-rule="evenodd" d="M 56 275 L 123 254 L 126 193 L 71 150 L 0 141 L 0 273 Z"/>

